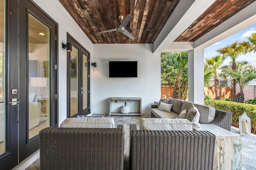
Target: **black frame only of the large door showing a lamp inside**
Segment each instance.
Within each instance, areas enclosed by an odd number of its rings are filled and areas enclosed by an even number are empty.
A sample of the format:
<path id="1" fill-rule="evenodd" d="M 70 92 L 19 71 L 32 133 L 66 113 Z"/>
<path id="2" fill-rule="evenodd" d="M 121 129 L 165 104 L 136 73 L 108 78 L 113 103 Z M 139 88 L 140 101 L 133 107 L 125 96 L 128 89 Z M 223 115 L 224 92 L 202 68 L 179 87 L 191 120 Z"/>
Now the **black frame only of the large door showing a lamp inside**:
<path id="1" fill-rule="evenodd" d="M 50 126 L 58 126 L 58 98 L 55 97 L 58 96 L 58 72 L 55 69 L 55 65 L 58 65 L 58 23 L 32 0 L 20 0 L 18 20 L 20 32 L 18 40 L 20 49 L 19 162 L 39 149 L 39 135 L 28 139 L 28 14 L 32 14 L 33 17 L 47 25 L 51 31 L 54 30 L 50 33 Z"/>

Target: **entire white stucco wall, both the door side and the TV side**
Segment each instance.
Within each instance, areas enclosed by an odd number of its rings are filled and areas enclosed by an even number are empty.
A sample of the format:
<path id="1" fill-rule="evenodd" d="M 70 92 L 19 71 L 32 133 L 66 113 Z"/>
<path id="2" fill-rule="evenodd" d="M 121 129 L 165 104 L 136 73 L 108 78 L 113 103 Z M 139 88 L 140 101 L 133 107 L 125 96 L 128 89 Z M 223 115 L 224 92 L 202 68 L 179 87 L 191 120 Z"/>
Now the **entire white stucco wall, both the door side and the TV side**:
<path id="1" fill-rule="evenodd" d="M 108 113 L 109 97 L 141 97 L 142 114 L 150 114 L 150 106 L 160 99 L 160 54 L 152 53 L 149 44 L 92 44 L 59 1 L 34 0 L 58 23 L 59 125 L 66 119 L 66 43 L 67 32 L 90 52 L 90 105 L 92 113 Z M 51 5 L 49 5 L 51 4 Z M 72 25 L 72 26 L 70 26 Z M 138 78 L 109 78 L 108 61 L 138 61 Z"/>

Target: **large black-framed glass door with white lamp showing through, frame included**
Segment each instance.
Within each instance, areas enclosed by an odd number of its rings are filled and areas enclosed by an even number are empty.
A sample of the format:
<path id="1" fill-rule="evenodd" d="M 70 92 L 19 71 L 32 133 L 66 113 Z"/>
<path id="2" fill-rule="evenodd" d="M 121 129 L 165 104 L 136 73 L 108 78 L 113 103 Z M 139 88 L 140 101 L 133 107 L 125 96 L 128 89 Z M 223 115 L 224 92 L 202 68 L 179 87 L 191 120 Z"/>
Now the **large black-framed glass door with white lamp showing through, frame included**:
<path id="1" fill-rule="evenodd" d="M 19 107 L 19 160 L 39 149 L 40 130 L 56 126 L 57 116 L 56 23 L 29 1 L 22 9 L 20 100 L 26 102 Z"/>

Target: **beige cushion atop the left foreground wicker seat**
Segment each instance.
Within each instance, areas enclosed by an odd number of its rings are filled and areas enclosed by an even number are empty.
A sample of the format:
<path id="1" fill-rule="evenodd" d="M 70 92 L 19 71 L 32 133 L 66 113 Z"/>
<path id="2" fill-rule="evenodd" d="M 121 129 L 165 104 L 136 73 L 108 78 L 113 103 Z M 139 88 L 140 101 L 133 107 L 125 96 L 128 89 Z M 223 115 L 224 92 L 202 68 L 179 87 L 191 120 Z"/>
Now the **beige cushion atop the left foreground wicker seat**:
<path id="1" fill-rule="evenodd" d="M 60 127 L 114 128 L 113 117 L 72 117 L 65 119 Z"/>

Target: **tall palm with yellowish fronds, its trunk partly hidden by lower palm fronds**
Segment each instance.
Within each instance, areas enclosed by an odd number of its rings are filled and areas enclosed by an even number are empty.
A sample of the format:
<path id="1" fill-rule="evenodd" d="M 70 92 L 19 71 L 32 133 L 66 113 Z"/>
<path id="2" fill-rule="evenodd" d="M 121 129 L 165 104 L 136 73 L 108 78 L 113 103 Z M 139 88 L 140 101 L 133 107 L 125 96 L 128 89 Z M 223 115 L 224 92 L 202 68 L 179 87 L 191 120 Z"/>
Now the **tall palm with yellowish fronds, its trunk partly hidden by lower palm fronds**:
<path id="1" fill-rule="evenodd" d="M 222 54 L 225 58 L 231 59 L 231 68 L 233 71 L 236 70 L 236 60 L 238 57 L 246 53 L 246 47 L 242 45 L 241 43 L 238 43 L 238 41 L 232 43 L 231 45 L 227 45 L 226 47 L 222 49 L 216 50 L 220 54 Z M 232 80 L 232 99 L 235 101 L 236 96 L 236 80 Z"/>

